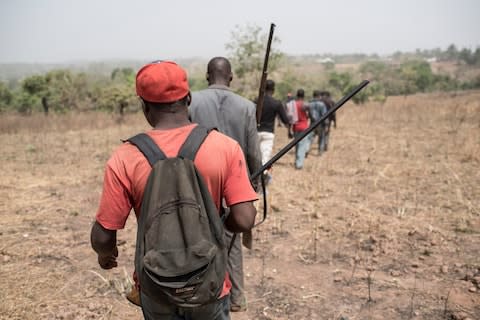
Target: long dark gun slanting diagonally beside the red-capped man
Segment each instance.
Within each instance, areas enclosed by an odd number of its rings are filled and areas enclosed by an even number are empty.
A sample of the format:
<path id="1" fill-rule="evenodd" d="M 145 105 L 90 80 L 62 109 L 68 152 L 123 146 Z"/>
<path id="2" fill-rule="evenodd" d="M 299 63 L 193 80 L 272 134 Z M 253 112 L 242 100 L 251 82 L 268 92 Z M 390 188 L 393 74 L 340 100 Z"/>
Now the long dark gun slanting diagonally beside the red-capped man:
<path id="1" fill-rule="evenodd" d="M 281 157 L 283 157 L 288 151 L 290 151 L 290 149 L 292 149 L 293 147 L 295 147 L 299 142 L 300 140 L 304 139 L 310 132 L 312 132 L 313 130 L 315 130 L 316 127 L 318 127 L 323 121 L 325 121 L 326 119 L 328 119 L 328 117 L 330 117 L 331 114 L 333 114 L 334 112 L 336 112 L 338 109 L 340 109 L 344 104 L 345 102 L 347 102 L 348 100 L 350 100 L 354 95 L 356 95 L 358 92 L 360 92 L 360 90 L 362 90 L 364 87 L 366 87 L 368 84 L 370 83 L 370 81 L 368 80 L 363 80 L 359 85 L 357 85 L 355 88 L 353 88 L 352 91 L 350 91 L 349 93 L 347 93 L 342 99 L 340 99 L 340 101 L 338 101 L 330 110 L 328 110 L 327 113 L 325 113 L 320 119 L 318 119 L 314 124 L 310 125 L 310 127 L 305 130 L 304 132 L 302 132 L 301 135 L 299 135 L 298 137 L 296 137 L 295 139 L 293 139 L 292 141 L 290 141 L 290 143 L 288 143 L 285 147 L 283 147 L 279 152 L 277 152 L 277 154 L 275 154 L 270 160 L 268 160 L 260 169 L 257 170 L 257 172 L 253 173 L 251 176 L 250 176 L 250 180 L 253 180 L 255 179 L 256 177 L 260 176 L 261 180 L 262 180 L 262 184 L 264 183 L 263 182 L 263 172 L 267 169 L 269 169 L 275 162 L 277 162 Z M 265 193 L 264 193 L 265 194 Z M 266 207 L 266 197 L 264 196 L 263 197 L 263 205 L 264 205 L 264 210 L 263 210 L 263 219 L 256 223 L 255 226 L 258 226 L 259 224 L 263 223 L 265 221 L 265 219 L 267 219 L 267 210 L 265 210 L 265 207 Z"/>

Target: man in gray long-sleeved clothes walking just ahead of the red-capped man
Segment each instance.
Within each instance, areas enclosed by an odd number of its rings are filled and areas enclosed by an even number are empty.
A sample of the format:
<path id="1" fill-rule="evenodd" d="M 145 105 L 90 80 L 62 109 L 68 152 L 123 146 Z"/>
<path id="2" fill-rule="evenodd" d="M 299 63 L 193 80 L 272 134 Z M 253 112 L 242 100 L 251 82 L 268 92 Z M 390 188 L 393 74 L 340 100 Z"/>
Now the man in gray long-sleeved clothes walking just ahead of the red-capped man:
<path id="1" fill-rule="evenodd" d="M 189 107 L 190 118 L 207 128 L 215 127 L 223 134 L 235 139 L 245 155 L 249 174 L 261 166 L 261 153 L 253 102 L 230 90 L 233 79 L 230 62 L 215 57 L 207 66 L 208 88 L 192 93 Z M 215 156 L 215 155 L 212 155 Z M 247 235 L 251 237 L 251 235 Z M 230 292 L 231 311 L 246 310 L 243 292 L 243 258 L 240 237 L 233 243 L 228 261 L 228 272 L 232 281 Z"/>

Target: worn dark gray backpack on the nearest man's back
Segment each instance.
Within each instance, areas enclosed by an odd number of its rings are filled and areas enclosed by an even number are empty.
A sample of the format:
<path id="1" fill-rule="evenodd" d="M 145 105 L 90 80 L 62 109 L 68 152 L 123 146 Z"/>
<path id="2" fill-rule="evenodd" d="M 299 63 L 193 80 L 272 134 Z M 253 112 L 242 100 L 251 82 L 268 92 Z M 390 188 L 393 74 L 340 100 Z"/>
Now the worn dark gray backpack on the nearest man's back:
<path id="1" fill-rule="evenodd" d="M 127 140 L 152 166 L 137 229 L 140 288 L 153 300 L 180 307 L 217 300 L 225 278 L 223 222 L 193 163 L 208 133 L 196 126 L 175 158 L 167 158 L 146 134 Z"/>

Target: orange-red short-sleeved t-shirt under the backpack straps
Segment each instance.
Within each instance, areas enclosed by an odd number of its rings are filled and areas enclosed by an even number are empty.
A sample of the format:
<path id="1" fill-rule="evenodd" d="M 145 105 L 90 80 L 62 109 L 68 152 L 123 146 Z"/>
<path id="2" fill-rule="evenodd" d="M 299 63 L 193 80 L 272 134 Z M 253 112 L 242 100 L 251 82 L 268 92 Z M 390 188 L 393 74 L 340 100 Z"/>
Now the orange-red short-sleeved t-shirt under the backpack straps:
<path id="1" fill-rule="evenodd" d="M 191 124 L 171 130 L 150 130 L 147 134 L 167 157 L 174 157 L 194 127 L 195 124 Z M 194 163 L 217 209 L 220 209 L 222 198 L 227 206 L 257 200 L 248 178 L 245 157 L 235 140 L 217 131 L 210 132 Z M 136 146 L 124 143 L 118 147 L 105 167 L 103 192 L 96 215 L 98 223 L 109 230 L 123 229 L 132 207 L 138 218 L 150 171 L 150 164 Z M 230 288 L 227 275 L 221 297 L 228 294 Z"/>

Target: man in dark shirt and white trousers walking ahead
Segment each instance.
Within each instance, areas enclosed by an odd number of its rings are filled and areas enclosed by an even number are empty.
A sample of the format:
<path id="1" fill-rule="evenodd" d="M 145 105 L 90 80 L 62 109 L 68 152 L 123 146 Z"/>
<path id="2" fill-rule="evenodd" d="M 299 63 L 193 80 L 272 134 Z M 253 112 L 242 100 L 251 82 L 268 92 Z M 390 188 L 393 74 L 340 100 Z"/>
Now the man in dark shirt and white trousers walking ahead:
<path id="1" fill-rule="evenodd" d="M 262 152 L 262 164 L 270 160 L 273 150 L 275 118 L 288 124 L 289 119 L 283 104 L 273 97 L 275 92 L 275 82 L 267 80 L 265 84 L 265 97 L 263 100 L 262 117 L 258 126 L 258 137 L 260 139 L 260 151 Z"/>

